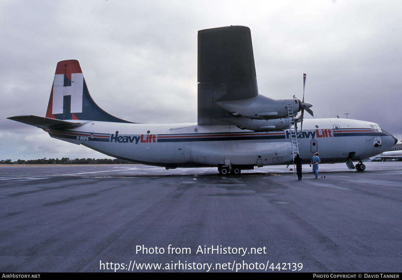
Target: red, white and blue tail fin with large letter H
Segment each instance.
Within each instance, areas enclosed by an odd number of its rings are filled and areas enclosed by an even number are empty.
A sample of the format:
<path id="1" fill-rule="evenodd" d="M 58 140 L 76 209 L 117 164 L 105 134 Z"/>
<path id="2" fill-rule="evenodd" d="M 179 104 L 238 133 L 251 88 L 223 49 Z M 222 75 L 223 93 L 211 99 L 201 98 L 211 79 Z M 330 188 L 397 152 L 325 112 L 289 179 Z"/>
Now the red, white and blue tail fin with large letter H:
<path id="1" fill-rule="evenodd" d="M 46 118 L 131 123 L 108 114 L 95 103 L 76 60 L 57 63 Z"/>

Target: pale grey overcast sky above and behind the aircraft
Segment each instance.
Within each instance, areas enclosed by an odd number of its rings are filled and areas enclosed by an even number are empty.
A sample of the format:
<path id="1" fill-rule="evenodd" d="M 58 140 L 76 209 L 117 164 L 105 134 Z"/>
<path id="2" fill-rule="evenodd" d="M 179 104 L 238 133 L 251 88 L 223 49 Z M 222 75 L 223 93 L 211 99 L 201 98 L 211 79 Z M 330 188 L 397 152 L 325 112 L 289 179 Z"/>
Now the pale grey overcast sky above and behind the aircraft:
<path id="1" fill-rule="evenodd" d="M 6 119 L 45 116 L 66 59 L 118 118 L 197 122 L 197 32 L 230 25 L 251 29 L 260 94 L 301 99 L 307 73 L 314 118 L 349 113 L 402 139 L 400 0 L 2 0 L 0 15 L 0 159 L 107 157 Z"/>

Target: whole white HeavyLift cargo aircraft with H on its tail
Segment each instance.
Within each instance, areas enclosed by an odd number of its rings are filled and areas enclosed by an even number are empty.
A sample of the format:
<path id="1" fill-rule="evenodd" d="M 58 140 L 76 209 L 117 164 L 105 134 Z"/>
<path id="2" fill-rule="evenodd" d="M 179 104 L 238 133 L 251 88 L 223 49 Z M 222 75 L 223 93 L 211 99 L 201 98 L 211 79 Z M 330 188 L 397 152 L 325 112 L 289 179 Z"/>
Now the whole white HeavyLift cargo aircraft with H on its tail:
<path id="1" fill-rule="evenodd" d="M 322 163 L 355 168 L 358 161 L 358 170 L 397 142 L 372 122 L 303 120 L 311 107 L 304 93 L 302 101 L 259 95 L 250 29 L 229 26 L 198 32 L 198 123 L 137 124 L 108 114 L 90 96 L 76 60 L 57 63 L 46 117 L 9 119 L 116 158 L 166 169 L 215 166 L 221 174 L 293 162 L 293 122 L 301 122 L 301 157 L 319 151 Z"/>

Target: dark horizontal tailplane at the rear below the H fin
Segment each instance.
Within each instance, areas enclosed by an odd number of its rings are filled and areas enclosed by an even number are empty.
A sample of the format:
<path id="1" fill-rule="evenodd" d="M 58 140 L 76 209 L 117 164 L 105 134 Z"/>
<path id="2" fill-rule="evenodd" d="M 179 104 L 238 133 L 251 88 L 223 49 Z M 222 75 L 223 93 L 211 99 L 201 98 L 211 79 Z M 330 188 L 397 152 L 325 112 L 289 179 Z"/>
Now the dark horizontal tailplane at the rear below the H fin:
<path id="1" fill-rule="evenodd" d="M 70 122 L 64 120 L 57 120 L 52 118 L 45 118 L 39 116 L 15 116 L 8 118 L 17 122 L 22 122 L 23 124 L 29 124 L 31 126 L 36 126 L 38 128 L 50 128 L 50 129 L 66 129 L 66 128 L 76 128 L 86 124 L 86 122 Z"/>

